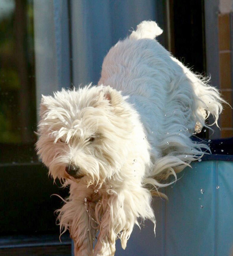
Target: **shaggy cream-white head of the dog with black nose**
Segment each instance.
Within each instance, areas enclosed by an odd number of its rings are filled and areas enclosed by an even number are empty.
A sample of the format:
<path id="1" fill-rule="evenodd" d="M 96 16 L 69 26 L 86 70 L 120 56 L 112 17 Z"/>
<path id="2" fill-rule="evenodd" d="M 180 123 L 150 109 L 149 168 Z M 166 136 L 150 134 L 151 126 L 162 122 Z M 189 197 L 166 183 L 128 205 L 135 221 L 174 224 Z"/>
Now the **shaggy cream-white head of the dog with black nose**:
<path id="1" fill-rule="evenodd" d="M 36 149 L 50 175 L 103 183 L 128 155 L 131 111 L 120 92 L 87 86 L 42 96 Z"/>

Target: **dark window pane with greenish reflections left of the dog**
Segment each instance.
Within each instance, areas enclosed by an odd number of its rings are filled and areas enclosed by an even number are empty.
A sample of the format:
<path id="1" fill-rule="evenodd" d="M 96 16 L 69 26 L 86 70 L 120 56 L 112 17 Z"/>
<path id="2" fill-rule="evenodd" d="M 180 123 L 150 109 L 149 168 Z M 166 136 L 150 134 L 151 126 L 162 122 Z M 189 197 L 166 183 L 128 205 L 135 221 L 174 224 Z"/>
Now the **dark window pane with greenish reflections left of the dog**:
<path id="1" fill-rule="evenodd" d="M 33 1 L 0 1 L 0 162 L 35 161 Z"/>

